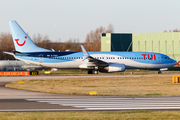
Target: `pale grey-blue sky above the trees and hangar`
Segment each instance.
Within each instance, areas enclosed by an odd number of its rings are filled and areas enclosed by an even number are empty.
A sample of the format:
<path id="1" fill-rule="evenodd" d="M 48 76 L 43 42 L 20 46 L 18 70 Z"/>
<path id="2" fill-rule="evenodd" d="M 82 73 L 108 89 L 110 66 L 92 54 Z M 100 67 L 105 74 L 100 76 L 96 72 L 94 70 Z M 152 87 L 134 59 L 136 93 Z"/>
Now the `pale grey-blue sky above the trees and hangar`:
<path id="1" fill-rule="evenodd" d="M 16 20 L 30 36 L 84 42 L 91 30 L 110 23 L 114 32 L 163 32 L 180 28 L 180 0 L 1 0 L 0 32 Z"/>

